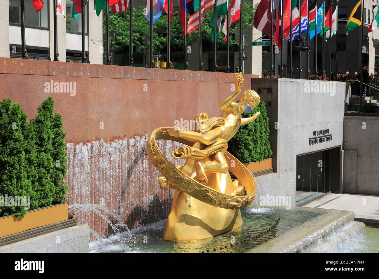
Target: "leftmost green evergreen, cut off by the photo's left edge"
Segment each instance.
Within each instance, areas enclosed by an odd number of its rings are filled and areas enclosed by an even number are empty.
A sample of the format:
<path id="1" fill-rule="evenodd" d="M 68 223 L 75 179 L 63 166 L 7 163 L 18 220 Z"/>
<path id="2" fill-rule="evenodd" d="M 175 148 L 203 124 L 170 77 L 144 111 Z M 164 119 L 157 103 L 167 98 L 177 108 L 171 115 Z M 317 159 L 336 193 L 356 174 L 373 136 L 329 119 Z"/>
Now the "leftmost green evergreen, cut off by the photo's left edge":
<path id="1" fill-rule="evenodd" d="M 6 194 L 8 197 L 32 195 L 25 159 L 27 128 L 27 115 L 19 104 L 12 106 L 9 99 L 0 102 L 0 196 L 3 198 Z M 27 211 L 25 206 L 0 206 L 0 216 L 23 216 Z"/>

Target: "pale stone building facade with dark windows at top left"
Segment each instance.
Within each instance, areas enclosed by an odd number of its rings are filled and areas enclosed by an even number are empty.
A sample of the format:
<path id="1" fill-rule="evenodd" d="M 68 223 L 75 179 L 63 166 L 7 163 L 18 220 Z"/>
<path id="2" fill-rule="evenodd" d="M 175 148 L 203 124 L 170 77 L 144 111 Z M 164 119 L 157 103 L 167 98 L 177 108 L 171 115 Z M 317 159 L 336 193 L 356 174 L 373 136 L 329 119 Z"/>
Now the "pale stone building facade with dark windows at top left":
<path id="1" fill-rule="evenodd" d="M 63 0 L 66 17 L 57 16 L 58 59 L 60 61 L 81 61 L 81 13 L 75 19 L 71 16 L 72 0 Z M 21 57 L 21 8 L 20 0 L 3 0 L 0 3 L 0 56 Z M 25 44 L 27 58 L 53 60 L 54 29 L 53 0 L 44 2 L 37 13 L 32 1 L 25 1 Z M 94 0 L 85 8 L 85 51 L 91 63 L 103 63 L 102 14 L 96 15 Z"/>

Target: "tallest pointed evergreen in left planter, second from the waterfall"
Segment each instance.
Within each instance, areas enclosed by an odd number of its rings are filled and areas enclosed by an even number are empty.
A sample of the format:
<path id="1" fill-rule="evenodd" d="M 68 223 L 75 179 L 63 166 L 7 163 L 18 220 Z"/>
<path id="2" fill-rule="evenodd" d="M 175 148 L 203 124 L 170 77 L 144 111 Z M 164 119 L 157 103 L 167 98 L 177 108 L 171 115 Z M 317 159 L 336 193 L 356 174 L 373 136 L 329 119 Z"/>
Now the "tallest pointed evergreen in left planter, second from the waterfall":
<path id="1" fill-rule="evenodd" d="M 49 97 L 38 107 L 38 114 L 30 121 L 31 137 L 36 146 L 37 180 L 31 181 L 34 191 L 33 199 L 37 201 L 38 208 L 49 206 L 53 202 L 55 185 L 52 181 L 54 172 L 52 159 L 52 119 L 54 112 L 53 98 Z"/>

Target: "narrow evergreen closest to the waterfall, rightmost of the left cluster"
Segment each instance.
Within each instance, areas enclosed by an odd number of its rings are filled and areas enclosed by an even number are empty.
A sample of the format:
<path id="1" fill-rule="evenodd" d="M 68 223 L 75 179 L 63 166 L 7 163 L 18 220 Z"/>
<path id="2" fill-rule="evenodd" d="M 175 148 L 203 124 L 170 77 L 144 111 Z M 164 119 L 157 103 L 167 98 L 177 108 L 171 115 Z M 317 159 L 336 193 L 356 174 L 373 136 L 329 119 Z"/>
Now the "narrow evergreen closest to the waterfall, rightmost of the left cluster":
<path id="1" fill-rule="evenodd" d="M 62 116 L 58 113 L 55 113 L 52 118 L 52 131 L 53 139 L 51 156 L 53 159 L 54 170 L 51 178 L 55 185 L 53 199 L 58 203 L 62 203 L 66 199 L 66 191 L 68 189 L 67 185 L 63 182 L 67 171 L 66 142 L 64 141 L 66 133 L 63 132 Z"/>

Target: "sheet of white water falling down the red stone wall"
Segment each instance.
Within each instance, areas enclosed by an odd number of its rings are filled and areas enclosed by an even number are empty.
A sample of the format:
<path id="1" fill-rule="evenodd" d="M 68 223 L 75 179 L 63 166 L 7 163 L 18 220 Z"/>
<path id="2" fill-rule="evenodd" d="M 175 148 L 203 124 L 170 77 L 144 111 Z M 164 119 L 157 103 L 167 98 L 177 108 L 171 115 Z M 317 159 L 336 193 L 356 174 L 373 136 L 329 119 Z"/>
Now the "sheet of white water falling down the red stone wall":
<path id="1" fill-rule="evenodd" d="M 67 143 L 69 210 L 97 237 L 168 216 L 174 191 L 159 188 L 160 174 L 146 154 L 147 139 L 144 134 L 111 142 Z M 170 141 L 158 144 L 166 156 L 177 148 Z"/>

